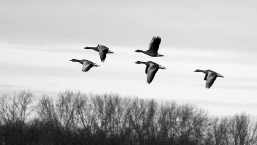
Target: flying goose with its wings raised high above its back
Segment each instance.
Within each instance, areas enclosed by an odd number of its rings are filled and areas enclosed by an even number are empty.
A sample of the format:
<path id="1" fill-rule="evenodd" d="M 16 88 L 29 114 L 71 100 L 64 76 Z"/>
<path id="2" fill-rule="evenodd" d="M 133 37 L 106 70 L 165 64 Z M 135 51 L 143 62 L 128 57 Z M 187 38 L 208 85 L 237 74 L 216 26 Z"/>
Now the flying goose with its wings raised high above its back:
<path id="1" fill-rule="evenodd" d="M 142 52 L 146 55 L 149 55 L 151 57 L 163 57 L 160 53 L 158 53 L 159 45 L 160 45 L 161 38 L 157 36 L 153 37 L 151 42 L 149 43 L 149 49 L 146 51 L 143 50 L 135 50 L 135 52 Z"/>

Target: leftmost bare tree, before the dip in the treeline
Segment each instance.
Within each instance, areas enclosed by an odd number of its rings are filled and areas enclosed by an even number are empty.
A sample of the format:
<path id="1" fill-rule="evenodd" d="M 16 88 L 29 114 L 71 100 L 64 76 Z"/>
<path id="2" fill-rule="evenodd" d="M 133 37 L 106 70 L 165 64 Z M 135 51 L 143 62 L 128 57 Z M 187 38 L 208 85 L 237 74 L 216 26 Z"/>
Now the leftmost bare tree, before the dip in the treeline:
<path id="1" fill-rule="evenodd" d="M 10 144 L 24 144 L 25 123 L 35 110 L 35 96 L 30 92 L 14 94 L 13 97 L 2 95 L 0 98 L 1 124 L 5 125 L 5 142 Z M 15 137 L 17 140 L 13 140 Z"/>

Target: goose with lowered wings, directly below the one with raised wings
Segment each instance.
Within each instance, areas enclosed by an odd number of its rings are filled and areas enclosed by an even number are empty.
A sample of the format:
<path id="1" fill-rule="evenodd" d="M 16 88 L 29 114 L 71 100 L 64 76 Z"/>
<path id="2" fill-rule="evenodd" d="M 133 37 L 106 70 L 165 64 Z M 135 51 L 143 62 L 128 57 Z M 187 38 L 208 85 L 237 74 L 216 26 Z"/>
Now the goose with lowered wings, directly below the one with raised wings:
<path id="1" fill-rule="evenodd" d="M 154 76 L 156 74 L 156 72 L 158 71 L 158 69 L 166 69 L 166 67 L 161 66 L 155 62 L 152 61 L 148 61 L 148 62 L 142 62 L 142 61 L 137 61 L 135 62 L 136 64 L 145 64 L 146 68 L 145 68 L 145 74 L 147 75 L 146 77 L 146 82 L 151 84 L 151 82 L 154 79 Z"/>

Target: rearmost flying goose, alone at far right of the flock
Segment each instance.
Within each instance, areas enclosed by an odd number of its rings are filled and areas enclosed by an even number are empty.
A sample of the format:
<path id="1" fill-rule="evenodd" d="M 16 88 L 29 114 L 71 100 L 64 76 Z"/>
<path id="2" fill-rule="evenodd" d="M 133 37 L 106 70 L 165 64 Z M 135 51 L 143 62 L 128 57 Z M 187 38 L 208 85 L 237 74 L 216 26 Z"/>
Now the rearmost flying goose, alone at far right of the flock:
<path id="1" fill-rule="evenodd" d="M 215 71 L 212 71 L 210 69 L 207 70 L 200 70 L 200 69 L 196 69 L 194 72 L 204 72 L 205 73 L 205 78 L 204 80 L 206 81 L 206 88 L 210 88 L 212 86 L 212 84 L 214 83 L 214 81 L 216 80 L 217 77 L 222 77 L 224 78 L 221 74 L 218 74 Z"/>

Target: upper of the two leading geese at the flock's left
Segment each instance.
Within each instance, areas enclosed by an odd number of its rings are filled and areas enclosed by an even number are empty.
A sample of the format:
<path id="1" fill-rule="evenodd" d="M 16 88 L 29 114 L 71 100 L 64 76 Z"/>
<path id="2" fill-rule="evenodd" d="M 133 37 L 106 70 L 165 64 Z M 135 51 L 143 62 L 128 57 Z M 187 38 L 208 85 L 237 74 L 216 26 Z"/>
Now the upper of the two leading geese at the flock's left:
<path id="1" fill-rule="evenodd" d="M 114 53 L 113 51 L 109 50 L 108 47 L 98 44 L 97 47 L 84 47 L 84 49 L 93 49 L 99 52 L 101 62 L 105 61 L 106 53 Z"/>

